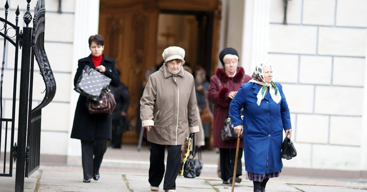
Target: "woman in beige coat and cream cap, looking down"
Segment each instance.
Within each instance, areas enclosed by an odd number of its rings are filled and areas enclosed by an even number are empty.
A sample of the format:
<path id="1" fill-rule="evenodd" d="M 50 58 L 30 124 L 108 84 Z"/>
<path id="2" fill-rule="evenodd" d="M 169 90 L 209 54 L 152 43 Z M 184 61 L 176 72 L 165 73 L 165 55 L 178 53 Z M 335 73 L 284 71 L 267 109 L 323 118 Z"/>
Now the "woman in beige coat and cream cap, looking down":
<path id="1" fill-rule="evenodd" d="M 186 130 L 199 132 L 199 122 L 194 78 L 182 67 L 185 50 L 168 47 L 162 56 L 163 66 L 151 74 L 146 83 L 140 100 L 140 117 L 150 142 L 150 190 L 159 190 L 164 174 L 164 148 L 167 145 L 163 189 L 175 192 Z"/>

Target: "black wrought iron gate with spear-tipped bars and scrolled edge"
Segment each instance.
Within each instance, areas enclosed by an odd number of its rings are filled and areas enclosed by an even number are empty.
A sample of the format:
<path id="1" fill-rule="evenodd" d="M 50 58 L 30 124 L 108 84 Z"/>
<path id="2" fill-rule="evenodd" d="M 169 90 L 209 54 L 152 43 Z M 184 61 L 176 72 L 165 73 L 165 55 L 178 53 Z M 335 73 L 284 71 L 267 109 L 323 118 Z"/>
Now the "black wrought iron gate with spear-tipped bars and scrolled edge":
<path id="1" fill-rule="evenodd" d="M 32 21 L 32 14 L 29 11 L 31 0 L 26 1 L 27 10 L 23 17 L 26 26 L 23 27 L 22 31 L 19 31 L 20 29 L 18 26 L 19 7 L 15 12 L 15 25 L 9 22 L 7 18 L 9 8 L 8 2 L 6 2 L 5 5 L 5 18 L 0 17 L 0 21 L 4 24 L 4 28 L 0 30 L 0 35 L 4 38 L 0 88 L 0 149 L 1 143 L 4 143 L 4 150 L 3 153 L 0 153 L 0 162 L 3 164 L 3 169 L 0 169 L 0 176 L 12 177 L 12 163 L 13 160 L 17 161 L 15 172 L 15 191 L 23 191 L 24 177 L 29 177 L 39 168 L 41 109 L 52 101 L 56 92 L 54 75 L 52 74 L 46 51 L 44 49 L 45 0 L 37 1 L 36 7 L 34 8 L 33 27 L 28 26 Z M 14 30 L 14 36 L 9 35 L 10 29 Z M 5 68 L 8 66 L 6 58 L 13 57 L 13 55 L 9 55 L 7 52 L 7 45 L 9 43 L 11 43 L 14 46 L 13 49 L 15 49 L 14 75 L 12 82 L 12 111 L 11 118 L 3 118 L 3 77 Z M 19 49 L 22 49 L 19 89 L 19 121 L 18 139 L 17 143 L 14 144 Z M 38 63 L 40 74 L 43 77 L 46 89 L 42 102 L 38 106 L 32 108 L 34 58 L 36 58 Z M 6 71 L 8 72 L 9 70 Z M 11 82 L 7 83 L 9 84 Z M 4 136 L 1 135 L 3 132 L 5 134 Z M 8 142 L 8 132 L 10 132 L 10 142 Z M 8 151 L 10 151 L 9 154 L 7 154 Z M 7 156 L 9 156 L 9 159 L 7 159 Z M 1 171 L 3 171 L 3 173 L 1 173 Z"/>

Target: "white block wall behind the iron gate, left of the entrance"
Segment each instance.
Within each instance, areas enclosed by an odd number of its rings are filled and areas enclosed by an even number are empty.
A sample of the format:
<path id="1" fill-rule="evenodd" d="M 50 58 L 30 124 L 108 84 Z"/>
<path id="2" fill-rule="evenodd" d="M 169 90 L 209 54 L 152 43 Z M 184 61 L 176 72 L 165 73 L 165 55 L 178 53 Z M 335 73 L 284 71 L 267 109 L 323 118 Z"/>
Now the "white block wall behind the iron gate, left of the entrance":
<path id="1" fill-rule="evenodd" d="M 4 5 L 6 0 L 0 0 L 0 15 L 4 17 Z M 32 16 L 36 0 L 30 3 Z M 26 10 L 26 0 L 8 0 L 10 9 L 8 18 L 15 21 L 15 10 L 19 5 L 19 26 L 25 26 L 23 15 Z M 46 29 L 45 29 L 45 49 L 50 61 L 52 71 L 57 84 L 57 92 L 53 101 L 42 110 L 41 119 L 41 154 L 66 156 L 68 152 L 69 121 L 70 121 L 70 92 L 72 91 L 71 79 L 72 68 L 77 66 L 73 61 L 73 38 L 74 38 L 74 7 L 75 0 L 62 0 L 62 13 L 57 13 L 58 0 L 46 0 Z M 30 26 L 33 23 L 31 22 Z M 1 38 L 0 44 L 3 45 Z M 9 46 L 11 47 L 11 46 Z M 3 53 L 3 46 L 0 48 Z M 3 85 L 3 110 L 4 118 L 11 117 L 12 107 L 12 78 L 14 75 L 14 48 L 7 49 L 6 68 L 4 71 Z M 2 57 L 1 57 L 2 58 Z M 19 50 L 18 60 L 18 82 L 17 99 L 19 100 L 19 79 L 21 68 L 21 50 Z M 37 63 L 34 62 L 33 81 L 33 108 L 37 106 L 44 97 L 45 86 Z M 19 102 L 16 102 L 15 129 L 18 127 Z M 5 129 L 2 129 L 2 141 L 4 141 Z M 9 133 L 9 130 L 8 130 Z M 10 134 L 8 134 L 9 140 Z M 15 130 L 15 141 L 17 142 L 17 130 Z M 52 146 L 51 146 L 52 143 Z M 8 146 L 10 141 L 8 141 Z M 3 144 L 4 145 L 4 144 Z M 3 152 L 3 146 L 1 152 Z"/>

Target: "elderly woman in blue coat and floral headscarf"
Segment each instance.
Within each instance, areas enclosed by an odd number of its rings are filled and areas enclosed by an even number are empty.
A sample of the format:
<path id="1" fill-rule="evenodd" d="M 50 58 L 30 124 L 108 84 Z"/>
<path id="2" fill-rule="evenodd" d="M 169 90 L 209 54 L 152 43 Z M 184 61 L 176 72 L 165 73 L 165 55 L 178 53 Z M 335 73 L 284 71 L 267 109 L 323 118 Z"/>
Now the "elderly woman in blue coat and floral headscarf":
<path id="1" fill-rule="evenodd" d="M 282 131 L 292 134 L 286 97 L 280 83 L 272 79 L 270 63 L 259 64 L 252 79 L 241 85 L 229 106 L 237 134 L 243 133 L 245 166 L 248 179 L 254 183 L 254 192 L 265 192 L 269 178 L 279 177 L 283 168 Z"/>

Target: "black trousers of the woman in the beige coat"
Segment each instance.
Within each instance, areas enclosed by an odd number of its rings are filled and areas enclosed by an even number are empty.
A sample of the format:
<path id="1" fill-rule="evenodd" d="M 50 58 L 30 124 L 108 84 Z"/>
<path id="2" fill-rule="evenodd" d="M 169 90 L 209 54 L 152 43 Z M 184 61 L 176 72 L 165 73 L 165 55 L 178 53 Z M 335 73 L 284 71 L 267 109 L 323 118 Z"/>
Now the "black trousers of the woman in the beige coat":
<path id="1" fill-rule="evenodd" d="M 150 143 L 149 183 L 159 186 L 164 174 L 165 145 Z M 164 175 L 163 190 L 176 189 L 176 178 L 181 166 L 181 145 L 167 145 L 167 169 Z"/>

